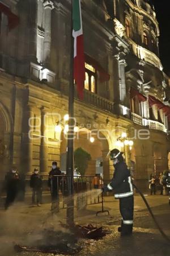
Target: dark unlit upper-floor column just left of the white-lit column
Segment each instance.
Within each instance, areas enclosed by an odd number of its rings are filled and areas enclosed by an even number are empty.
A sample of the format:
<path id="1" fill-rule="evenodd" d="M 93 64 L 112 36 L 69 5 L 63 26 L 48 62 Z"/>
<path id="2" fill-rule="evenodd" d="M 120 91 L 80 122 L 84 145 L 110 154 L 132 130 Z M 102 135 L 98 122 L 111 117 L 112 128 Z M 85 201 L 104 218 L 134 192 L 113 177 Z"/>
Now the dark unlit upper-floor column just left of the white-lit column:
<path id="1" fill-rule="evenodd" d="M 37 1 L 28 2 L 28 31 L 29 31 L 29 58 L 30 61 L 37 62 Z"/>

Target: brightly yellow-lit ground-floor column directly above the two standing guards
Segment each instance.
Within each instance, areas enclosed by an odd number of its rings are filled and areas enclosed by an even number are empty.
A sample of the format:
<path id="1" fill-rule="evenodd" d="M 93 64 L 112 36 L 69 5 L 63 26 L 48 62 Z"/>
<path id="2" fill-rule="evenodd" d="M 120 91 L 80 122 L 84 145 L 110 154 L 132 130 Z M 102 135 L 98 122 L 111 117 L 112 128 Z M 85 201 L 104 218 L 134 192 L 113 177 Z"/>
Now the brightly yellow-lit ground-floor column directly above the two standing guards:
<path id="1" fill-rule="evenodd" d="M 48 172 L 48 135 L 46 129 L 47 118 L 45 117 L 46 109 L 41 109 L 41 145 L 40 145 L 40 172 L 46 174 Z"/>

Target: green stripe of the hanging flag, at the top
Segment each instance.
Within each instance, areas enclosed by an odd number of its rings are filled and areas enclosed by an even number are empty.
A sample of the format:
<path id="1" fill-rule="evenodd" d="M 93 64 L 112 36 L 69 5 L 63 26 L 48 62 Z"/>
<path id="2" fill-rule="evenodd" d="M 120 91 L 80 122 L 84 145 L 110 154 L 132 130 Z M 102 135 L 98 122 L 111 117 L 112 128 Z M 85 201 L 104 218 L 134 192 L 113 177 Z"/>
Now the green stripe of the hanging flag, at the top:
<path id="1" fill-rule="evenodd" d="M 80 28 L 81 22 L 79 0 L 73 0 L 73 30 L 79 31 Z"/>

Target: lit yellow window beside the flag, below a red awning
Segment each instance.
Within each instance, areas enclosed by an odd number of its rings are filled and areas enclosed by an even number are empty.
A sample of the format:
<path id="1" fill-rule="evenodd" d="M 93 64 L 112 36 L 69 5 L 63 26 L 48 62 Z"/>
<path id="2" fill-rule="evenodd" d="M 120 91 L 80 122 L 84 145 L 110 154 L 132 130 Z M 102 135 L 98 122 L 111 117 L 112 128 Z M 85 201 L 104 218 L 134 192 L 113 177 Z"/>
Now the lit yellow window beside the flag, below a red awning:
<path id="1" fill-rule="evenodd" d="M 84 81 L 84 89 L 96 93 L 96 69 L 85 63 L 86 80 Z"/>

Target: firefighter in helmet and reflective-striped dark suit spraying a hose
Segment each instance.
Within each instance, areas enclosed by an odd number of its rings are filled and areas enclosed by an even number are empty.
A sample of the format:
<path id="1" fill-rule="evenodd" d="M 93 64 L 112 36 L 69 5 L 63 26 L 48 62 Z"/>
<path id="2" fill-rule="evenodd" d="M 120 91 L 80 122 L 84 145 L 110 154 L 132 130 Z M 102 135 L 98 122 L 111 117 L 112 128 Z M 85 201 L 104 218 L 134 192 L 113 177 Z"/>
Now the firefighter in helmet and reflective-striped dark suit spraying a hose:
<path id="1" fill-rule="evenodd" d="M 134 210 L 134 197 L 133 185 L 131 183 L 130 170 L 124 162 L 122 152 L 114 148 L 110 152 L 110 158 L 113 160 L 114 175 L 111 183 L 105 185 L 104 192 L 114 190 L 115 199 L 120 200 L 120 213 L 122 216 L 121 227 L 118 232 L 121 236 L 130 235 L 133 231 L 133 210 Z"/>

